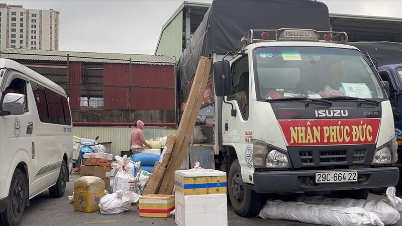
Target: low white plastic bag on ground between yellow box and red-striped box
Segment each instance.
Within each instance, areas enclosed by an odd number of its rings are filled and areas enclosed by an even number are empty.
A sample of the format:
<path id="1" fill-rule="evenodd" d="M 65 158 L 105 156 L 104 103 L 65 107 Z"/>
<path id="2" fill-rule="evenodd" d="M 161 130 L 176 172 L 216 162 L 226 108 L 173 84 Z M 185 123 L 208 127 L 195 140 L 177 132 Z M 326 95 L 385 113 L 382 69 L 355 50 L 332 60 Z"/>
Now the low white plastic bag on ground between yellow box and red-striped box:
<path id="1" fill-rule="evenodd" d="M 113 214 L 129 211 L 131 203 L 136 203 L 140 199 L 140 195 L 122 190 L 116 191 L 113 194 L 107 194 L 100 199 L 100 213 Z"/>

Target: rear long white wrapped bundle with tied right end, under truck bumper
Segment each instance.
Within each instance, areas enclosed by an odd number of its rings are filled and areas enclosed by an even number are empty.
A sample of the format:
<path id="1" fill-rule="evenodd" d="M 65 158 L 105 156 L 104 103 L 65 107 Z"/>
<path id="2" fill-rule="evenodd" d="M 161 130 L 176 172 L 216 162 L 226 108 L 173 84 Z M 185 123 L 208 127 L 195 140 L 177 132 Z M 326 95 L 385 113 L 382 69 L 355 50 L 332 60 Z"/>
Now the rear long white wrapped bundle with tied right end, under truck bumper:
<path id="1" fill-rule="evenodd" d="M 388 191 L 388 190 L 387 190 Z M 398 198 L 390 193 L 390 199 Z M 397 209 L 388 204 L 389 199 L 381 200 L 366 200 L 366 199 L 352 199 L 352 198 L 330 198 L 323 196 L 301 196 L 297 198 L 298 202 L 307 204 L 322 204 L 331 206 L 347 207 L 361 207 L 365 211 L 372 212 L 386 225 L 394 224 L 400 219 L 400 214 Z"/>

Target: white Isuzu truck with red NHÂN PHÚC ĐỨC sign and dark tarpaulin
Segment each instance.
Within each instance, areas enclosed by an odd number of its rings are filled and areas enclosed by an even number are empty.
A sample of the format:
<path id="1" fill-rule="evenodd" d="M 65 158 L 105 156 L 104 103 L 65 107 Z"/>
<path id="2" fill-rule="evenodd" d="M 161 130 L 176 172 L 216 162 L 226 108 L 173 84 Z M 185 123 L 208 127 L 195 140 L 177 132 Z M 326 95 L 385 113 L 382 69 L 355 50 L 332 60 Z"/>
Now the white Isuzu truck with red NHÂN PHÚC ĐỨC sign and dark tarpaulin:
<path id="1" fill-rule="evenodd" d="M 257 215 L 264 193 L 367 198 L 397 183 L 389 85 L 323 3 L 214 1 L 179 60 L 180 104 L 201 55 L 215 125 L 198 146 L 214 149 L 237 214 Z"/>

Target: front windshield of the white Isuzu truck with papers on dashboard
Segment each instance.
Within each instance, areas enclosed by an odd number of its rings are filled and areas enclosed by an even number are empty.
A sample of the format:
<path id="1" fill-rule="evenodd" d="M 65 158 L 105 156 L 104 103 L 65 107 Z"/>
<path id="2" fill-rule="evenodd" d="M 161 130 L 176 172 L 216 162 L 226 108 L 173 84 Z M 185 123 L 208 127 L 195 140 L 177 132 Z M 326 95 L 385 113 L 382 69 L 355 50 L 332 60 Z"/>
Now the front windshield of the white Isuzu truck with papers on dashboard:
<path id="1" fill-rule="evenodd" d="M 382 99 L 380 83 L 353 49 L 262 47 L 254 51 L 257 100 L 349 96 Z"/>

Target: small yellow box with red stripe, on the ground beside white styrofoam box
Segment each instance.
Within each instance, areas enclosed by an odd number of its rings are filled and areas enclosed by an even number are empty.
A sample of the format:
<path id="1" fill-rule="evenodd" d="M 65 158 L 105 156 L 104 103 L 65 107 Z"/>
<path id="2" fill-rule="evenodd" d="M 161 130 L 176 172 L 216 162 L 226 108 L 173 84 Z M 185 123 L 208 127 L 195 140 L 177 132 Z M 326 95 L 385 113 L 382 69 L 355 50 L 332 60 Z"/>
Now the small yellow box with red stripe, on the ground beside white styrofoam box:
<path id="1" fill-rule="evenodd" d="M 140 216 L 169 217 L 174 209 L 174 195 L 142 195 L 138 207 Z"/>

